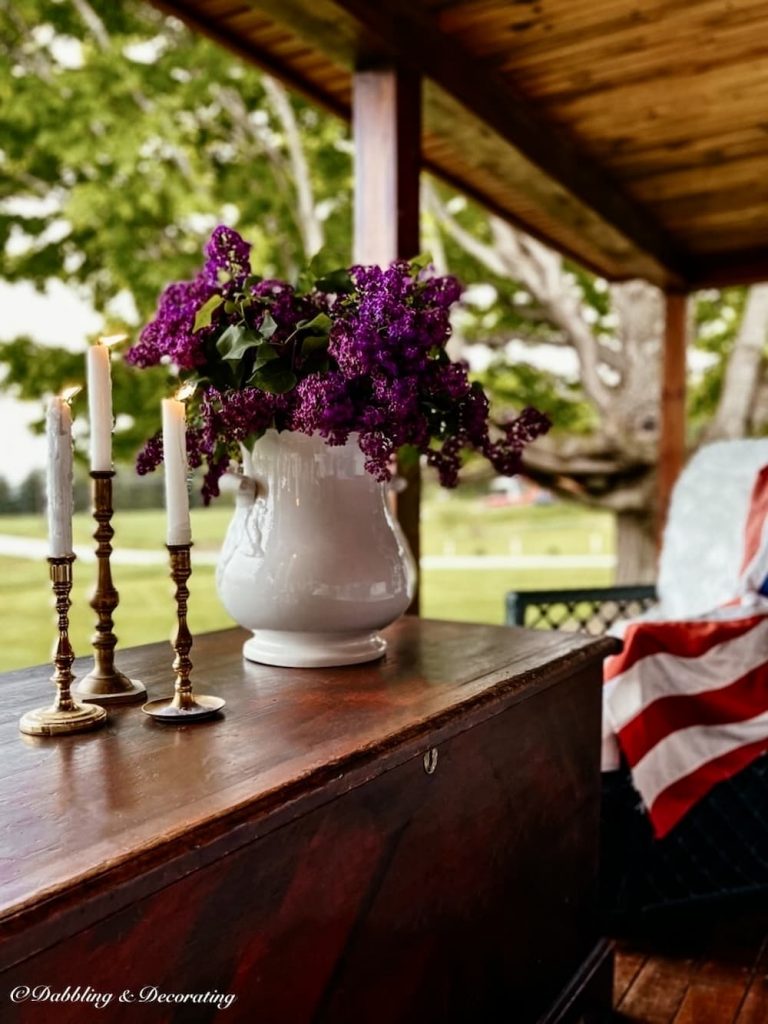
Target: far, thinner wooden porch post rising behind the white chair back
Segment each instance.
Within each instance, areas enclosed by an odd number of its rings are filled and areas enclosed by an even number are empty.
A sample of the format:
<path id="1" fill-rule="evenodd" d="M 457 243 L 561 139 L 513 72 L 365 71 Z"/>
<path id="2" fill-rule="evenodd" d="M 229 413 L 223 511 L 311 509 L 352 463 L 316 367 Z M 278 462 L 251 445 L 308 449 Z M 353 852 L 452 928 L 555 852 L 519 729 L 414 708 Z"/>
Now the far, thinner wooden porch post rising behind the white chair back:
<path id="1" fill-rule="evenodd" d="M 662 433 L 658 445 L 657 531 L 667 522 L 670 496 L 685 463 L 685 354 L 687 296 L 668 292 L 662 362 Z"/>

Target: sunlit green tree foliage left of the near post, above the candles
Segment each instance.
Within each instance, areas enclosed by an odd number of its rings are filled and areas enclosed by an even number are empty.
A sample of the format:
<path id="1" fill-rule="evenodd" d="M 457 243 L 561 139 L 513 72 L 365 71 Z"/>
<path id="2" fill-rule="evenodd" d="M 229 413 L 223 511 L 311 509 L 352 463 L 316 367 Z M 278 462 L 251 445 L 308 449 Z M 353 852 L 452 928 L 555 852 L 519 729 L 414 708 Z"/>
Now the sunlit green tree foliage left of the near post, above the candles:
<path id="1" fill-rule="evenodd" d="M 345 126 L 138 0 L 0 0 L 0 138 L 2 278 L 76 287 L 109 332 L 135 334 L 219 221 L 254 242 L 262 275 L 321 247 L 349 260 Z M 2 345 L 5 386 L 34 398 L 82 380 L 60 341 Z M 115 371 L 129 457 L 169 382 Z"/>

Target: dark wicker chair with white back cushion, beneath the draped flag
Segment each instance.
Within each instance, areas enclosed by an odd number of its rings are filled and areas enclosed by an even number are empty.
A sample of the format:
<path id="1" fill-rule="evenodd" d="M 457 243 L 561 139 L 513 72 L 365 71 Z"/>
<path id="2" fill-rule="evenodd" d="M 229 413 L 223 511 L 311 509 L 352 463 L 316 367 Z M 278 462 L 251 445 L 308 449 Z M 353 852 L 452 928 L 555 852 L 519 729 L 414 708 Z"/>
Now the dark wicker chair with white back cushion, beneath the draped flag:
<path id="1" fill-rule="evenodd" d="M 749 495 L 766 463 L 765 440 L 713 444 L 691 460 L 673 496 L 658 594 L 651 586 L 512 592 L 508 624 L 599 635 L 622 618 L 693 617 L 722 603 L 734 593 Z M 701 545 L 708 530 L 717 540 Z M 688 593 L 676 591 L 686 581 Z M 718 784 L 663 840 L 653 839 L 629 772 L 606 772 L 601 847 L 602 904 L 614 929 L 768 902 L 768 757 Z"/>

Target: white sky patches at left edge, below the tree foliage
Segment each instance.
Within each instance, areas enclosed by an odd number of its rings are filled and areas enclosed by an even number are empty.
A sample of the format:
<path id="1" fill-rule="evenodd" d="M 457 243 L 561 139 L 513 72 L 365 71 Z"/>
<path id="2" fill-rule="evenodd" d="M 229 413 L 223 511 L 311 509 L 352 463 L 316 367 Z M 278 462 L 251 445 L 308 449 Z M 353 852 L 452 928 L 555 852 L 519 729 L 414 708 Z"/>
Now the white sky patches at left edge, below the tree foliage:
<path id="1" fill-rule="evenodd" d="M 26 334 L 40 343 L 63 344 L 84 353 L 86 339 L 100 327 L 100 315 L 60 282 L 51 281 L 44 295 L 32 285 L 0 282 L 2 341 Z M 29 424 L 41 414 L 39 402 L 16 401 L 0 393 L 0 476 L 11 483 L 45 465 L 45 438 L 35 437 L 29 430 Z"/>

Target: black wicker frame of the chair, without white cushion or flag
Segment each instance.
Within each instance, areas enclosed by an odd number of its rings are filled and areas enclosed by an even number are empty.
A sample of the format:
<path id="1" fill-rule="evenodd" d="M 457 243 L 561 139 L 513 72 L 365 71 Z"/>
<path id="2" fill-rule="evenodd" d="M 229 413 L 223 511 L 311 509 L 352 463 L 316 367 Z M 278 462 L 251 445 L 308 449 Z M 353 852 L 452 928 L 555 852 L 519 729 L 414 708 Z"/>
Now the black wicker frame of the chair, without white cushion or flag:
<path id="1" fill-rule="evenodd" d="M 652 586 L 517 591 L 507 595 L 507 623 L 599 635 L 654 598 Z M 604 773 L 601 848 L 601 902 L 613 929 L 768 900 L 768 757 L 715 786 L 663 840 L 629 771 Z"/>

